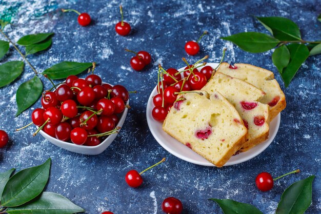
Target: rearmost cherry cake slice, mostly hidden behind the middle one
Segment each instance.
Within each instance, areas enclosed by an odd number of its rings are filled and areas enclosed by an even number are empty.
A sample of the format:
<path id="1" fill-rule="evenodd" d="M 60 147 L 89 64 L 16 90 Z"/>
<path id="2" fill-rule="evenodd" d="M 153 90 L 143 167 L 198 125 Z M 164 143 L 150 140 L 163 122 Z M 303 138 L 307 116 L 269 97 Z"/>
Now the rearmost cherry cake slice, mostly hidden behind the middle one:
<path id="1" fill-rule="evenodd" d="M 279 84 L 274 79 L 273 72 L 249 64 L 237 63 L 230 65 L 222 63 L 217 69 L 218 72 L 236 77 L 245 82 L 251 83 L 263 90 L 266 95 L 260 102 L 269 105 L 270 120 L 286 107 L 286 100 Z"/>

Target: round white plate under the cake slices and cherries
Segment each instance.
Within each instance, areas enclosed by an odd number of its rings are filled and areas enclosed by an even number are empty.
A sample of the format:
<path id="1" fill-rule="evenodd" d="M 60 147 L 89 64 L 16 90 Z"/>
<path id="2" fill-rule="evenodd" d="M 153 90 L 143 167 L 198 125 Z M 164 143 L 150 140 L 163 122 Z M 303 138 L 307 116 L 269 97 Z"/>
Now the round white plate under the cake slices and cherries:
<path id="1" fill-rule="evenodd" d="M 218 64 L 217 63 L 208 63 L 207 65 L 212 66 L 215 68 Z M 202 67 L 201 67 L 202 68 Z M 178 69 L 178 71 L 182 71 L 184 68 Z M 178 142 L 174 138 L 172 138 L 170 135 L 165 133 L 162 129 L 163 123 L 159 123 L 155 121 L 152 117 L 152 109 L 154 108 L 153 104 L 153 96 L 157 94 L 157 87 L 154 88 L 152 93 L 149 96 L 148 103 L 147 103 L 147 123 L 149 126 L 150 131 L 152 132 L 154 138 L 156 141 L 163 146 L 168 152 L 175 155 L 177 158 L 180 158 L 184 161 L 203 165 L 203 166 L 215 166 L 212 163 L 208 162 L 205 158 L 185 146 L 184 144 Z M 239 163 L 243 163 L 245 161 L 248 161 L 261 152 L 263 152 L 273 141 L 275 138 L 275 135 L 277 133 L 277 130 L 279 128 L 280 124 L 280 114 L 278 114 L 273 121 L 270 123 L 270 133 L 268 140 L 260 143 L 259 145 L 249 149 L 246 152 L 239 153 L 237 155 L 234 155 L 230 158 L 230 160 L 224 165 L 224 166 L 230 166 L 235 165 Z"/>

